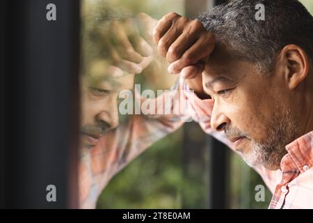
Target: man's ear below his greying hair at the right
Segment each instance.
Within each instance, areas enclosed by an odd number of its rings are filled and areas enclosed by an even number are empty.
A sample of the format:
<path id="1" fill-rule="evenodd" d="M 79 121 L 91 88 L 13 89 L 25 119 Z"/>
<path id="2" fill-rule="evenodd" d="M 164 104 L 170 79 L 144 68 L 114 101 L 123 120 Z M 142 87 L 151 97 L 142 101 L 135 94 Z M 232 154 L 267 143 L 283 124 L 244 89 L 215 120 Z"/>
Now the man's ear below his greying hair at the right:
<path id="1" fill-rule="evenodd" d="M 309 72 L 309 58 L 297 45 L 286 45 L 280 52 L 289 89 L 296 89 Z"/>

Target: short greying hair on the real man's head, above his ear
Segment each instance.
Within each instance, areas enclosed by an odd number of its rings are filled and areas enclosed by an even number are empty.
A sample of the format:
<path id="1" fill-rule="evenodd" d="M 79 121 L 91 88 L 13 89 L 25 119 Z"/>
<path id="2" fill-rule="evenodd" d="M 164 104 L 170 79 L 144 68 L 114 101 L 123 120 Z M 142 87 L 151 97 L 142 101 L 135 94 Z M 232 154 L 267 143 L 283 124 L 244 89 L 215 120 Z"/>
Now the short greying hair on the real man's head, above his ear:
<path id="1" fill-rule="evenodd" d="M 265 6 L 265 20 L 256 20 L 255 6 Z M 202 13 L 198 20 L 239 59 L 269 72 L 280 50 L 301 47 L 312 60 L 313 17 L 297 0 L 233 0 Z"/>

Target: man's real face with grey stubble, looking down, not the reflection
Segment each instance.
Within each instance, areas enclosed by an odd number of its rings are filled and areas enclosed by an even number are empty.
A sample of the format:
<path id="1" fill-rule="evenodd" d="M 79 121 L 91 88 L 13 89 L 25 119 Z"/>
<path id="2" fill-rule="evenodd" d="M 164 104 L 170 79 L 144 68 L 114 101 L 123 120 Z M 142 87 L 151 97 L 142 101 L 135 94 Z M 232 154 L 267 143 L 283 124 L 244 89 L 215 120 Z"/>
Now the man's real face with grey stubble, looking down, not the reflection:
<path id="1" fill-rule="evenodd" d="M 259 73 L 226 49 L 211 55 L 202 73 L 204 91 L 214 99 L 211 127 L 225 131 L 250 166 L 278 169 L 284 146 L 296 139 L 294 96 L 280 69 Z"/>

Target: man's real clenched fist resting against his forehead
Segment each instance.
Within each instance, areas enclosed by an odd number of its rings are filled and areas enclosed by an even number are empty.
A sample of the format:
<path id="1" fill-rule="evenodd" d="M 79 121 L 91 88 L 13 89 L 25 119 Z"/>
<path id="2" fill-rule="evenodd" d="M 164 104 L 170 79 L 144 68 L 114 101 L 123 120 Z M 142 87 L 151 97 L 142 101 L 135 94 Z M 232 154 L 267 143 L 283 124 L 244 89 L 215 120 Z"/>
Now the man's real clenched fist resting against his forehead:
<path id="1" fill-rule="evenodd" d="M 169 13 L 154 28 L 159 54 L 166 57 L 168 72 L 193 79 L 204 71 L 215 47 L 215 38 L 198 20 Z"/>

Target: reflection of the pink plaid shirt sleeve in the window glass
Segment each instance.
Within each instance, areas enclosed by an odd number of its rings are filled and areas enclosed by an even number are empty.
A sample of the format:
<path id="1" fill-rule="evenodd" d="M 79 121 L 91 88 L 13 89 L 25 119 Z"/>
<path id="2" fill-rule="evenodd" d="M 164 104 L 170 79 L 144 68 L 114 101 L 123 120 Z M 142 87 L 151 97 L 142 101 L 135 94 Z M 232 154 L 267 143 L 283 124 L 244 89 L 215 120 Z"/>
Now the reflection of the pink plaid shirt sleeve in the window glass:
<path id="1" fill-rule="evenodd" d="M 93 148 L 80 149 L 79 208 L 95 208 L 99 194 L 115 174 L 154 142 L 191 121 L 184 112 L 188 100 L 182 87 L 182 81 L 178 81 L 170 91 L 150 100 L 164 113 L 129 115 L 125 123 L 107 132 Z M 184 103 L 179 103 L 179 98 Z M 135 100 L 143 104 L 146 99 Z"/>

